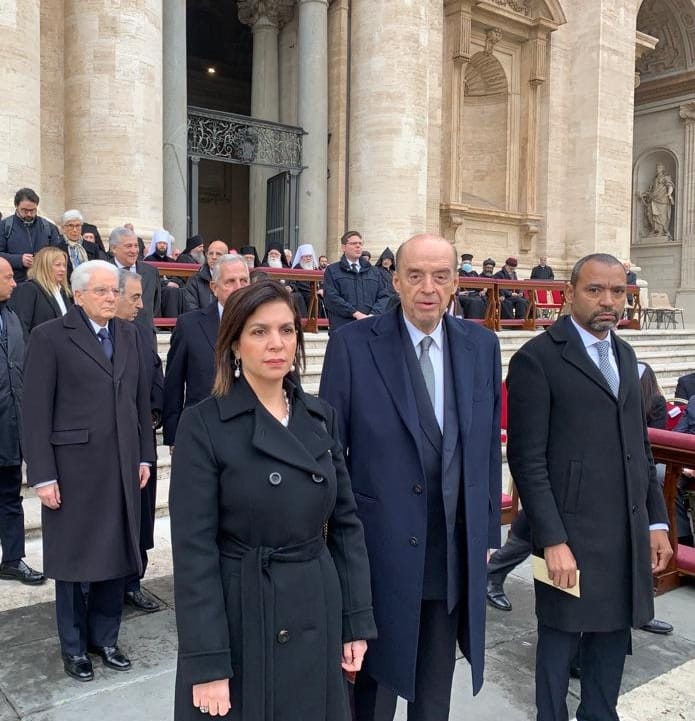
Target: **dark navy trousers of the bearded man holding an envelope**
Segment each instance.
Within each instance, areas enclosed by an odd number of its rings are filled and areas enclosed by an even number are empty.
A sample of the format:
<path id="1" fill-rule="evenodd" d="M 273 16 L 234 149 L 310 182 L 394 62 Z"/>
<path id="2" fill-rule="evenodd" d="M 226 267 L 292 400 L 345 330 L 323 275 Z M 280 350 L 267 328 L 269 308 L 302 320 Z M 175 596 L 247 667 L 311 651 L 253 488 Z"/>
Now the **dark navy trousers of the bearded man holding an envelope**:
<path id="1" fill-rule="evenodd" d="M 577 721 L 618 721 L 615 708 L 630 649 L 630 629 L 580 634 L 541 623 L 536 649 L 537 721 L 567 721 L 569 668 L 578 643 L 582 678 Z"/>

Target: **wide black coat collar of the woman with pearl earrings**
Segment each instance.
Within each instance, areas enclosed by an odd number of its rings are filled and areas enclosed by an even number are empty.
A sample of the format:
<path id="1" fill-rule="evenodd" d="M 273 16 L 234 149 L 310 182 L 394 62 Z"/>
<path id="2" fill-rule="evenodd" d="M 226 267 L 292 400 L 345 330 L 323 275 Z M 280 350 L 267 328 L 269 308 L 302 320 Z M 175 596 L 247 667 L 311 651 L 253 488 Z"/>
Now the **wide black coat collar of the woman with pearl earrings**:
<path id="1" fill-rule="evenodd" d="M 288 428 L 268 413 L 243 376 L 227 395 L 217 399 L 220 420 L 253 414 L 251 443 L 254 448 L 309 473 L 322 475 L 324 471 L 318 459 L 334 445 L 326 426 L 324 406 L 289 379 L 285 380 L 285 390 L 292 404 Z"/>

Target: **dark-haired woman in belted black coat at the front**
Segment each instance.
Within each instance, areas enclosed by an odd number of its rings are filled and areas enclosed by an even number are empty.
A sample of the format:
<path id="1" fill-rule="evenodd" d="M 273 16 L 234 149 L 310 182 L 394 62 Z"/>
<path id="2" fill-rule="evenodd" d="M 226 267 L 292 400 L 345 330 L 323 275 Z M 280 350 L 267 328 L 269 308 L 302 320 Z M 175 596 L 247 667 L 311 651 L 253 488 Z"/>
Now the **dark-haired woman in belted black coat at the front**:
<path id="1" fill-rule="evenodd" d="M 238 721 L 349 719 L 343 669 L 359 670 L 376 636 L 369 564 L 335 411 L 302 391 L 303 359 L 284 286 L 242 288 L 220 323 L 212 397 L 181 416 L 176 721 L 230 706 Z"/>

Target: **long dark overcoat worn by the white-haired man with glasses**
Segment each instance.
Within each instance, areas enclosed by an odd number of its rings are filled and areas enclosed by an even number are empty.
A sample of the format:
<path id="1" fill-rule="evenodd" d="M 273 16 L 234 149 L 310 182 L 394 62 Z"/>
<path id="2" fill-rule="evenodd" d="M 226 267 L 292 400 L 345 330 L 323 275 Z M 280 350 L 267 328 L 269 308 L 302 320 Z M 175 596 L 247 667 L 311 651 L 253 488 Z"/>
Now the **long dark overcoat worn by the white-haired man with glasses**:
<path id="1" fill-rule="evenodd" d="M 32 332 L 24 366 L 30 485 L 57 480 L 42 506 L 44 573 L 102 581 L 140 573 L 141 461 L 155 460 L 150 389 L 135 327 L 114 318 L 109 361 L 81 309 Z"/>

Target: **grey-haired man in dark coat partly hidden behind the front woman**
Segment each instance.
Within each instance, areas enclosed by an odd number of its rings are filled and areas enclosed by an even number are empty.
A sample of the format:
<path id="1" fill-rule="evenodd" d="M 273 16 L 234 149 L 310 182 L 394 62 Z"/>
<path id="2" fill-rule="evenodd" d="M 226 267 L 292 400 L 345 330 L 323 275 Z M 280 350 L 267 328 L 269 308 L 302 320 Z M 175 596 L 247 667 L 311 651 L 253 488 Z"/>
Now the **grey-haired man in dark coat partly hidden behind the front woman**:
<path id="1" fill-rule="evenodd" d="M 249 269 L 242 256 L 223 255 L 215 263 L 211 278 L 210 290 L 216 302 L 180 315 L 171 336 L 162 410 L 164 443 L 170 448 L 183 409 L 210 395 L 222 310 L 235 290 L 249 284 Z"/>

